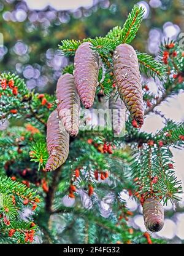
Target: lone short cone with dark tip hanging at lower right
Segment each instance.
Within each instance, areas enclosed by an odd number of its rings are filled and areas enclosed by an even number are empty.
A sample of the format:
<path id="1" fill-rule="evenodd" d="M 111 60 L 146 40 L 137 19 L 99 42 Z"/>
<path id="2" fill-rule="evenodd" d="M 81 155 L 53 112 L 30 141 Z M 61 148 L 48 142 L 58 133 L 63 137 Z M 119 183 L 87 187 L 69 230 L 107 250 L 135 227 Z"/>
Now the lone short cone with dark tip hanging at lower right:
<path id="1" fill-rule="evenodd" d="M 147 230 L 160 231 L 164 226 L 164 209 L 156 198 L 147 198 L 143 205 L 144 223 Z"/>

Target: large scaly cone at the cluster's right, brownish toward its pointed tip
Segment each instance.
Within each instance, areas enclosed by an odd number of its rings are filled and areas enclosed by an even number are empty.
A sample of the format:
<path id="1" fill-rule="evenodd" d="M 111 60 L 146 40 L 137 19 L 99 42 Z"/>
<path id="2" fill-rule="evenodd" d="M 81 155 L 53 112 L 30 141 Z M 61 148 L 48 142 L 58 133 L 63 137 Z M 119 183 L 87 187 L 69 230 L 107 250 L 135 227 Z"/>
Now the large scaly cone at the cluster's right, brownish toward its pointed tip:
<path id="1" fill-rule="evenodd" d="M 128 44 L 120 44 L 113 54 L 114 76 L 118 92 L 133 119 L 144 123 L 142 86 L 136 51 Z"/>

